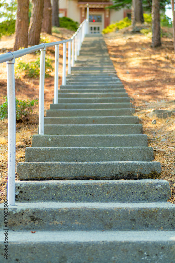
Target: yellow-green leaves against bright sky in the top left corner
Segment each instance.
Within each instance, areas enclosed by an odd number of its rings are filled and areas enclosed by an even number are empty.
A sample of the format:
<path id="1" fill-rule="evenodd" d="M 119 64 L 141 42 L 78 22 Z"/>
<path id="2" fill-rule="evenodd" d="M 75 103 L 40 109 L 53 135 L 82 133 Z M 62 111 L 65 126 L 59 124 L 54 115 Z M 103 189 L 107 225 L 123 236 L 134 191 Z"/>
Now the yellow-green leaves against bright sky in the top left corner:
<path id="1" fill-rule="evenodd" d="M 15 19 L 17 13 L 17 0 L 0 0 L 0 15 L 4 20 Z"/>

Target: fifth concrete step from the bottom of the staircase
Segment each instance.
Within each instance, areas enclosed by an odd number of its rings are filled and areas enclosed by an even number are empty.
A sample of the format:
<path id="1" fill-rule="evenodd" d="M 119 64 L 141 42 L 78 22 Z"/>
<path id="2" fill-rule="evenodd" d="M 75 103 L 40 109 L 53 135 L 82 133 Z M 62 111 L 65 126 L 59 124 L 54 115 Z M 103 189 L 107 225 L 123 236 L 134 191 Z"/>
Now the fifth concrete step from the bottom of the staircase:
<path id="1" fill-rule="evenodd" d="M 26 162 L 114 162 L 154 160 L 152 147 L 28 147 Z"/>

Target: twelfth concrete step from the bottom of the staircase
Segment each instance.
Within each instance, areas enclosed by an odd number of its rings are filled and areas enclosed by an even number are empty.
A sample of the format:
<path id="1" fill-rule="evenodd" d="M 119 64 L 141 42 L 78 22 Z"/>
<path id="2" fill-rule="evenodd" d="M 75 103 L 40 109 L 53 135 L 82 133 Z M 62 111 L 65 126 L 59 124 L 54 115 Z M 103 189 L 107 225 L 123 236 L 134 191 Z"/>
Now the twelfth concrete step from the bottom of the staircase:
<path id="1" fill-rule="evenodd" d="M 118 98 L 118 97 L 128 97 L 127 93 L 115 93 L 115 92 L 108 92 L 108 93 L 60 93 L 59 98 L 96 98 L 96 97 L 101 97 L 101 98 Z"/>

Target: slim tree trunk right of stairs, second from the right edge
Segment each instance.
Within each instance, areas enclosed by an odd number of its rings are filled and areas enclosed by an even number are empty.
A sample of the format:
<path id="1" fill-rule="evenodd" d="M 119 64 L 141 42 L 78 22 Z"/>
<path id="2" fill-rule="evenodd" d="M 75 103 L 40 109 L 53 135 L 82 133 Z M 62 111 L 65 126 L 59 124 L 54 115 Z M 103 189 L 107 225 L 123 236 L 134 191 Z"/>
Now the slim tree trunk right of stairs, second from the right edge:
<path id="1" fill-rule="evenodd" d="M 160 0 L 152 1 L 152 47 L 161 46 L 160 40 Z"/>

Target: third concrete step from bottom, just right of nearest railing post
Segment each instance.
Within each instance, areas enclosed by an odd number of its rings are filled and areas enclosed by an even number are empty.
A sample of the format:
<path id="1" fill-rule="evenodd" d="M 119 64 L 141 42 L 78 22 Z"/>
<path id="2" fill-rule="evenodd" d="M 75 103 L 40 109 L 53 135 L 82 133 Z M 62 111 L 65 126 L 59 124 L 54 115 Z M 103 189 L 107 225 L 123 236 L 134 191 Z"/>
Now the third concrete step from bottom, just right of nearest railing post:
<path id="1" fill-rule="evenodd" d="M 171 194 L 169 183 L 157 179 L 51 180 L 15 183 L 16 201 L 20 202 L 26 200 L 29 202 L 71 202 L 72 200 L 74 202 L 166 202 Z"/>

